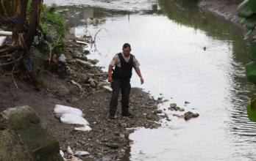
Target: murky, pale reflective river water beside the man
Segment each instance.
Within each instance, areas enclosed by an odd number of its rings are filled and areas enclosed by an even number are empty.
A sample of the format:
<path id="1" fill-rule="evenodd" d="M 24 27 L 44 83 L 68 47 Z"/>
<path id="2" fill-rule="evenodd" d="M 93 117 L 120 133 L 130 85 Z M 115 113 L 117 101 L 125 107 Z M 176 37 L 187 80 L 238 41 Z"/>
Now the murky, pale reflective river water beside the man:
<path id="1" fill-rule="evenodd" d="M 256 160 L 256 127 L 247 119 L 245 106 L 255 89 L 243 71 L 249 59 L 241 31 L 188 0 L 160 0 L 158 6 L 161 11 L 146 7 L 146 12 L 130 14 L 94 8 L 101 23 L 84 26 L 80 20 L 76 25 L 77 35 L 102 29 L 89 56 L 99 59 L 100 66 L 107 67 L 129 42 L 146 81 L 141 86 L 134 74 L 132 86 L 154 97 L 163 94 L 170 101 L 160 108 L 177 102 L 200 113 L 198 119 L 184 121 L 167 111 L 172 121 L 163 120 L 160 129 L 137 130 L 131 135 L 129 160 Z M 86 10 L 79 7 L 77 12 Z"/>

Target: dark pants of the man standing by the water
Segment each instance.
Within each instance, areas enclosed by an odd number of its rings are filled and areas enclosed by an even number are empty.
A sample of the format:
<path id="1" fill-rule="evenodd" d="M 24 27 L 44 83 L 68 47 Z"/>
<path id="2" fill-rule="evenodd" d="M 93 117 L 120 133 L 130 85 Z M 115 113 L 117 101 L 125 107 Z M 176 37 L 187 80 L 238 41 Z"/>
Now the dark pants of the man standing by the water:
<path id="1" fill-rule="evenodd" d="M 110 116 L 115 116 L 115 112 L 118 106 L 118 96 L 121 89 L 121 105 L 122 115 L 125 116 L 129 113 L 129 92 L 131 90 L 131 84 L 128 80 L 113 79 L 111 83 L 112 97 L 110 100 Z"/>

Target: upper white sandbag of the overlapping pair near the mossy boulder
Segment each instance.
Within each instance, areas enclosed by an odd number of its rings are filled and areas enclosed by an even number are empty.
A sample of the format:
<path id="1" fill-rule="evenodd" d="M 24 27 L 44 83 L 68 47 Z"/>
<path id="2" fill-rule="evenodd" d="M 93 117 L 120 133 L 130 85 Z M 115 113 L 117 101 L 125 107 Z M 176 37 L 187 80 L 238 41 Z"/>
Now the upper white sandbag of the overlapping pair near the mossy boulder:
<path id="1" fill-rule="evenodd" d="M 82 111 L 79 110 L 78 108 L 71 108 L 71 107 L 65 106 L 65 105 L 55 105 L 54 113 L 57 113 L 60 116 L 65 113 L 71 113 L 71 114 L 75 114 L 78 116 L 82 116 Z"/>

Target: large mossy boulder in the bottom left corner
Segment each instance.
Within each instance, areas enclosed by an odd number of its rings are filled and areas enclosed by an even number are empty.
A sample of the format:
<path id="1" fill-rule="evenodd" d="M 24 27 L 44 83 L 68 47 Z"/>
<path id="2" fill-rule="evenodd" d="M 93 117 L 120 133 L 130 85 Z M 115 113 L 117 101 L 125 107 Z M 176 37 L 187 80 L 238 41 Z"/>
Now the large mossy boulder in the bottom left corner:
<path id="1" fill-rule="evenodd" d="M 60 146 L 29 106 L 0 114 L 0 160 L 60 161 Z"/>

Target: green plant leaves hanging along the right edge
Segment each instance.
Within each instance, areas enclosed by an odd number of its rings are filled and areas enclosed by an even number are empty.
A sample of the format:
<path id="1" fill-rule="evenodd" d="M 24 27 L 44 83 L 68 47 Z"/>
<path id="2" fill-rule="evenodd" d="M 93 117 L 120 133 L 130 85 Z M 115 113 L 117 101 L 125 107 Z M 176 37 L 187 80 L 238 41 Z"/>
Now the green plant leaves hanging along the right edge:
<path id="1" fill-rule="evenodd" d="M 244 39 L 252 37 L 256 26 L 256 0 L 245 0 L 238 6 L 238 16 L 245 27 Z M 249 56 L 252 60 L 246 64 L 246 77 L 256 85 L 256 42 L 253 40 L 249 47 Z M 251 121 L 256 122 L 256 96 L 247 105 L 247 114 Z"/>

